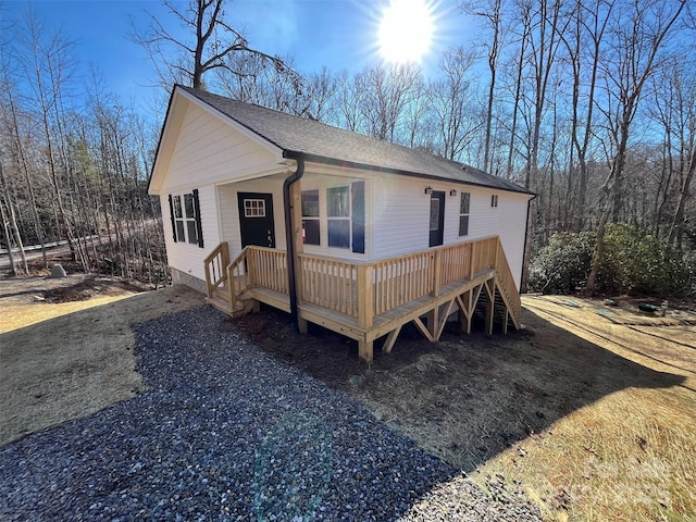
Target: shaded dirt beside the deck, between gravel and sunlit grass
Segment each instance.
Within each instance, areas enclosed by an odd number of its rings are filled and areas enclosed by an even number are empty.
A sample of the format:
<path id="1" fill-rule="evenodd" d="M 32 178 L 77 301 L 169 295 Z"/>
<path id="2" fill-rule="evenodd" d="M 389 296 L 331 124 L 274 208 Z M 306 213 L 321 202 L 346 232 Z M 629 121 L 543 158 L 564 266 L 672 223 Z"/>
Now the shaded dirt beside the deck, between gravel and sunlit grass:
<path id="1" fill-rule="evenodd" d="M 470 472 L 513 444 L 616 391 L 668 388 L 685 377 L 637 364 L 527 310 L 525 330 L 471 335 L 447 326 L 439 343 L 403 328 L 369 366 L 357 345 L 324 328 L 295 332 L 264 309 L 236 326 L 266 352 L 362 401 L 390 427 Z"/>

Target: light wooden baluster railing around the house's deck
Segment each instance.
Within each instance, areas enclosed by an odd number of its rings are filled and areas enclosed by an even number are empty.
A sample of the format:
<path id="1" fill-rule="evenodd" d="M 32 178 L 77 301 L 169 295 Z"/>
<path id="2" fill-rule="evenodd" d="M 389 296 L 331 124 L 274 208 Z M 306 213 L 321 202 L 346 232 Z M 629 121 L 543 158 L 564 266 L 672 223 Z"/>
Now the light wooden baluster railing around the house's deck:
<path id="1" fill-rule="evenodd" d="M 288 294 L 287 252 L 248 246 L 231 263 L 224 263 L 227 245 L 221 244 L 206 259 L 209 297 L 211 288 L 226 286 L 234 304 L 247 289 L 260 286 Z M 351 315 L 370 327 L 375 315 L 426 295 L 437 296 L 443 287 L 471 279 L 484 269 L 496 269 L 498 287 L 519 319 L 520 296 L 497 236 L 431 248 L 389 259 L 363 263 L 300 253 L 299 302 Z M 221 265 L 225 275 L 221 278 Z"/>

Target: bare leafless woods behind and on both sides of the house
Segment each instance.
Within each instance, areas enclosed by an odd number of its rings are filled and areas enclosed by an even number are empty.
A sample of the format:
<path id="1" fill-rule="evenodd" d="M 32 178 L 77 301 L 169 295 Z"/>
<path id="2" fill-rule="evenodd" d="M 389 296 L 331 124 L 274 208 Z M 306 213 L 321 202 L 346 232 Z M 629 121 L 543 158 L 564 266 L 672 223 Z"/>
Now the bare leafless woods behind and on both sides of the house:
<path id="1" fill-rule="evenodd" d="M 85 271 L 166 282 L 147 183 L 169 92 L 182 83 L 424 148 L 535 191 L 526 252 L 534 287 L 568 262 L 535 264 L 540 253 L 548 261 L 549 248 L 584 238 L 576 245 L 586 244 L 589 260 L 579 261 L 579 281 L 557 289 L 607 290 L 607 235 L 621 233 L 655 241 L 656 262 L 671 263 L 679 288 L 694 290 L 693 2 L 459 2 L 478 22 L 475 41 L 446 50 L 427 77 L 417 64 L 383 61 L 356 74 L 297 71 L 293 57 L 265 54 L 235 30 L 224 0 L 165 3 L 167 20 L 134 22 L 130 35 L 152 59 L 156 120 L 111 94 L 36 15 L 3 30 L 0 241 L 20 249 L 15 272 L 27 269 L 23 245 L 67 239 Z M 188 39 L 171 36 L 175 24 Z M 630 244 L 622 248 L 635 257 Z"/>

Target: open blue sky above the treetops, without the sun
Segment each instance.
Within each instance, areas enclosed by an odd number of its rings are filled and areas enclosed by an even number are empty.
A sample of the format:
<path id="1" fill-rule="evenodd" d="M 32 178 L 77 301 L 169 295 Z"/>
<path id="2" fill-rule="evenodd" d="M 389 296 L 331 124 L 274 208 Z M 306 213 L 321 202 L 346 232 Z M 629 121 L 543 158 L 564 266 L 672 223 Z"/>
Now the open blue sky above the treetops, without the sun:
<path id="1" fill-rule="evenodd" d="M 1 0 L 0 0 L 1 1 Z M 377 30 L 388 0 L 233 0 L 227 20 L 243 28 L 252 47 L 270 54 L 291 55 L 307 73 L 322 65 L 356 72 L 376 58 Z M 76 59 L 86 71 L 94 63 L 108 87 L 124 101 L 145 95 L 152 78 L 142 49 L 129 40 L 129 16 L 147 24 L 146 11 L 164 15 L 160 0 L 4 0 L 3 22 L 21 17 L 32 8 L 48 29 L 61 27 L 76 44 Z M 467 20 L 453 1 L 433 5 L 434 45 L 423 58 L 424 70 L 434 66 L 442 50 L 461 44 Z M 171 20 L 171 18 L 165 18 Z M 4 25 L 3 23 L 3 25 Z"/>

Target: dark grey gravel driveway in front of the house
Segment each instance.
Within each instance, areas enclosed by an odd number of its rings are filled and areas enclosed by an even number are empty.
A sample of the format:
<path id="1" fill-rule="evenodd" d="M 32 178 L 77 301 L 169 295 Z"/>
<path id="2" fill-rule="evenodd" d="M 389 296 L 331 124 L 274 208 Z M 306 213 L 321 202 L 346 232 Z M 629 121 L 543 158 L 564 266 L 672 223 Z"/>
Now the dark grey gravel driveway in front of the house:
<path id="1" fill-rule="evenodd" d="M 142 323 L 137 357 L 145 394 L 0 451 L 0 520 L 540 520 L 210 307 Z"/>

